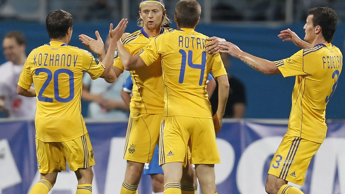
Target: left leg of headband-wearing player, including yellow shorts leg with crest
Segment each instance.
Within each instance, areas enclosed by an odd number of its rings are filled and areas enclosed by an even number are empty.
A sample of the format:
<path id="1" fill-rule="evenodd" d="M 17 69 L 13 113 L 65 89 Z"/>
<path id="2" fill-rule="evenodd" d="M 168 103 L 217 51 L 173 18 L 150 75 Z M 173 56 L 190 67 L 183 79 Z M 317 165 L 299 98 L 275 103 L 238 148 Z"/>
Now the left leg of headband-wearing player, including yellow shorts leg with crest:
<path id="1" fill-rule="evenodd" d="M 131 113 L 124 150 L 127 168 L 120 194 L 137 193 L 145 163 L 149 163 L 159 137 L 161 114 Z"/>

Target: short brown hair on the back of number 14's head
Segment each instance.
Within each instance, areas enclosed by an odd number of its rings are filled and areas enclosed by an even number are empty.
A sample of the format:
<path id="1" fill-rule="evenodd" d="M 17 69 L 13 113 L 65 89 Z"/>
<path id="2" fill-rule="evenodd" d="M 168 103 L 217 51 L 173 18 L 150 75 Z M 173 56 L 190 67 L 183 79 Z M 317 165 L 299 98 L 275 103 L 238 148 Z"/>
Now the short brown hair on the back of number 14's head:
<path id="1" fill-rule="evenodd" d="M 180 0 L 176 3 L 175 15 L 180 28 L 194 28 L 201 14 L 201 6 L 195 0 Z"/>

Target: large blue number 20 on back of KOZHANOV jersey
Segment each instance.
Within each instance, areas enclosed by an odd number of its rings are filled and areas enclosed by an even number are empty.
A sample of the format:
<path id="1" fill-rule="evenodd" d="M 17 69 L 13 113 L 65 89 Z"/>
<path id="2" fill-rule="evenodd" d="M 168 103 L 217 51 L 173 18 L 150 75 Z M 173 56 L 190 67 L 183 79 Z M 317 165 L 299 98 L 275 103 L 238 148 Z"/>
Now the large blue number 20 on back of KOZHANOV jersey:
<path id="1" fill-rule="evenodd" d="M 52 98 L 48 98 L 48 97 L 43 97 L 43 92 L 46 90 L 47 86 L 49 85 L 49 83 L 52 80 L 52 72 L 47 69 L 47 68 L 38 68 L 35 71 L 35 74 L 38 75 L 39 73 L 47 73 L 48 77 L 47 80 L 43 83 L 42 88 L 40 89 L 40 91 L 38 92 L 38 100 L 39 101 L 43 101 L 43 102 L 53 102 Z M 66 73 L 69 76 L 69 96 L 68 98 L 61 98 L 59 96 L 59 74 L 61 73 Z M 58 102 L 69 102 L 74 98 L 74 75 L 73 72 L 71 70 L 68 69 L 58 69 L 54 72 L 54 97 Z"/>

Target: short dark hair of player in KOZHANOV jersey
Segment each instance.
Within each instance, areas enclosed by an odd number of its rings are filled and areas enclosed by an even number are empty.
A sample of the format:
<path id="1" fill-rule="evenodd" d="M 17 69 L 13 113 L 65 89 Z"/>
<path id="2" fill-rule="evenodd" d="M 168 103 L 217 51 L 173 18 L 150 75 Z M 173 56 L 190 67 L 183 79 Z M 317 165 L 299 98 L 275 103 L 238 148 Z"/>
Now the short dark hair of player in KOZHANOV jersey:
<path id="1" fill-rule="evenodd" d="M 46 27 L 50 39 L 61 39 L 73 26 L 73 17 L 67 11 L 58 9 L 48 14 Z"/>

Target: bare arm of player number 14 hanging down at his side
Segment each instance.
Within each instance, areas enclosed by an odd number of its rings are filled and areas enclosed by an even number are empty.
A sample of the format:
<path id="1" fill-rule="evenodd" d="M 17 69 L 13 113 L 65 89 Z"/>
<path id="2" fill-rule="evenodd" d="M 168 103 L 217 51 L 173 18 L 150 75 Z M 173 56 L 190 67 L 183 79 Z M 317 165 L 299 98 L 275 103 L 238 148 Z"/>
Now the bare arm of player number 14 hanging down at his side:
<path id="1" fill-rule="evenodd" d="M 213 123 L 215 131 L 218 133 L 222 125 L 222 119 L 225 112 L 226 102 L 229 95 L 229 80 L 227 75 L 220 75 L 216 77 L 218 82 L 218 109 L 216 114 L 213 115 Z"/>

